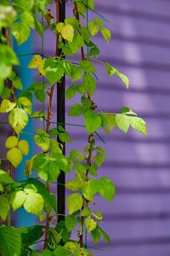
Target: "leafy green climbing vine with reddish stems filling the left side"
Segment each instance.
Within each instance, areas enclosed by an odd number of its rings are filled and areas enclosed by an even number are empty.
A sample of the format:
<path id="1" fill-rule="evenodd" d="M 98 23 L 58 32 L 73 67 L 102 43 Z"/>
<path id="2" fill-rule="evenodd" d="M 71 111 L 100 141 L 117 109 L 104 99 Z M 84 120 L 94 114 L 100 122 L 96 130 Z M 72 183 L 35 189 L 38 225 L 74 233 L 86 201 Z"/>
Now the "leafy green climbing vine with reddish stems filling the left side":
<path id="1" fill-rule="evenodd" d="M 59 19 L 61 4 L 72 7 L 72 15 L 64 20 Z M 88 12 L 94 13 L 93 20 Z M 35 81 L 25 90 L 16 72 L 20 61 L 13 42 L 25 43 L 31 30 L 42 38 L 48 30 L 54 33 L 54 55 L 47 56 L 43 51 L 32 55 L 28 68 L 35 69 L 42 81 Z M 112 202 L 116 192 L 109 177 L 98 178 L 106 155 L 105 148 L 96 143 L 96 137 L 102 143 L 98 130 L 110 133 L 117 126 L 127 133 L 131 126 L 145 136 L 146 125 L 137 113 L 126 107 L 120 113 L 98 111 L 99 102 L 94 102 L 95 90 L 98 90 L 95 64 L 99 63 L 108 76 L 113 77 L 113 83 L 117 76 L 128 89 L 129 80 L 112 63 L 100 60 L 99 47 L 93 42 L 97 33 L 110 42 L 111 32 L 106 27 L 105 18 L 95 9 L 94 0 L 1 0 L 0 125 L 8 125 L 10 136 L 4 145 L 7 154 L 1 160 L 2 166 L 5 161 L 8 167 L 0 169 L 0 255 L 94 255 L 89 252 L 87 233 L 94 243 L 100 239 L 110 242 L 102 229 L 102 207 L 96 212 L 92 207 L 96 195 Z M 80 54 L 78 62 L 74 61 L 77 53 Z M 87 131 L 87 146 L 82 151 L 75 148 L 69 155 L 65 155 L 65 143 L 74 145 L 74 142 L 66 131 L 67 124 L 53 119 L 54 91 L 62 86 L 65 77 L 71 81 L 65 91 L 66 100 L 79 98 L 68 115 L 81 116 L 84 121 L 79 126 Z M 35 110 L 36 102 L 42 103 L 41 111 Z M 8 118 L 7 123 L 4 116 Z M 40 125 L 34 133 L 25 131 L 30 120 L 36 125 L 39 119 L 42 123 L 38 122 Z M 31 152 L 29 142 L 21 138 L 26 132 L 34 137 L 35 145 L 39 147 L 36 154 Z M 29 152 L 31 159 L 25 160 L 24 156 Z M 20 169 L 23 161 L 26 178 L 18 181 L 16 168 Z M 60 173 L 67 175 L 71 172 L 75 177 L 60 184 L 70 190 L 66 199 L 67 211 L 60 214 L 57 196 L 50 186 L 57 183 Z M 16 211 L 20 207 L 37 215 L 41 224 L 14 227 L 11 209 Z M 55 224 L 53 218 L 57 219 Z"/>

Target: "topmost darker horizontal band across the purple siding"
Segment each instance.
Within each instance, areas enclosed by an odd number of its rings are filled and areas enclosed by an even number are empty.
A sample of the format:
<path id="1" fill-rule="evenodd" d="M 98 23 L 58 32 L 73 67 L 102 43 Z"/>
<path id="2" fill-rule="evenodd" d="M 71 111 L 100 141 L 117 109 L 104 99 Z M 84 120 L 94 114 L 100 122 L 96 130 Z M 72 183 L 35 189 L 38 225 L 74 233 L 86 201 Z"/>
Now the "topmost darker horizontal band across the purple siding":
<path id="1" fill-rule="evenodd" d="M 115 5 L 107 6 L 106 4 L 96 4 L 96 9 L 102 9 L 103 15 L 107 13 L 111 15 L 128 16 L 132 19 L 150 20 L 166 24 L 169 24 L 170 22 L 170 15 L 152 14 L 137 9 L 123 9 L 122 7 Z"/>

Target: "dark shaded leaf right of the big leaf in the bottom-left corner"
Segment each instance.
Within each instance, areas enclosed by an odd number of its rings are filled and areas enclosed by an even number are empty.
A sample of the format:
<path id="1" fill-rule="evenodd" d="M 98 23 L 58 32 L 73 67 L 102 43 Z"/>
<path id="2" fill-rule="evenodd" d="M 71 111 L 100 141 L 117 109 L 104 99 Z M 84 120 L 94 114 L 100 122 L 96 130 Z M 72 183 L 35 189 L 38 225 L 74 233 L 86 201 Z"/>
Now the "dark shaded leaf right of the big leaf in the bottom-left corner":
<path id="1" fill-rule="evenodd" d="M 34 225 L 17 229 L 17 231 L 20 232 L 22 246 L 30 246 L 38 241 L 43 235 L 42 229 L 43 226 L 41 225 Z"/>

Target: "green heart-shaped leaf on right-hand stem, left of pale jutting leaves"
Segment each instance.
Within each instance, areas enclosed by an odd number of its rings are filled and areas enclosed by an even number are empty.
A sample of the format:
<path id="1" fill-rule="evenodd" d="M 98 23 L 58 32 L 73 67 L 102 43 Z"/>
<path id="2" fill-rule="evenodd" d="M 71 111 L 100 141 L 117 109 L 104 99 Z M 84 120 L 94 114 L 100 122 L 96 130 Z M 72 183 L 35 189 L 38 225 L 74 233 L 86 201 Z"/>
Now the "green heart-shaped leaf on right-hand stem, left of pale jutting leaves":
<path id="1" fill-rule="evenodd" d="M 88 109 L 85 113 L 84 119 L 85 126 L 89 134 L 99 129 L 101 125 L 101 118 L 98 114 L 94 113 L 92 109 Z"/>

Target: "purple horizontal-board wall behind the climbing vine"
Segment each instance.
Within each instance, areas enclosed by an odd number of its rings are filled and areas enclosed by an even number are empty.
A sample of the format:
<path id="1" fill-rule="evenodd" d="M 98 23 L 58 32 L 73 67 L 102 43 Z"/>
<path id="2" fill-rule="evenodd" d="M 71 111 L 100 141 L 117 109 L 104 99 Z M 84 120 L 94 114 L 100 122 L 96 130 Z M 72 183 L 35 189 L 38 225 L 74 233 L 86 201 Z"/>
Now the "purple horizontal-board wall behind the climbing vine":
<path id="1" fill-rule="evenodd" d="M 100 36 L 96 38 L 101 58 L 127 74 L 130 91 L 118 79 L 108 79 L 104 68 L 96 65 L 99 90 L 94 101 L 100 102 L 100 109 L 110 112 L 118 112 L 122 106 L 132 108 L 147 122 L 148 137 L 135 131 L 124 135 L 118 129 L 109 136 L 100 133 L 106 141 L 108 160 L 99 172 L 116 183 L 116 197 L 112 205 L 96 199 L 104 209 L 103 226 L 111 236 L 111 246 L 102 242 L 99 247 L 105 251 L 94 254 L 167 256 L 170 251 L 170 2 L 96 2 L 99 12 L 110 20 L 108 27 L 112 32 L 109 45 Z M 46 54 L 54 55 L 53 37 L 46 34 L 45 38 Z M 71 104 L 67 103 L 67 110 Z M 79 123 L 81 119 L 67 118 L 67 122 Z M 68 131 L 77 148 L 82 149 L 87 133 L 77 128 Z M 97 143 L 101 144 L 98 139 Z M 67 151 L 70 149 L 68 146 Z M 89 244 L 92 245 L 90 241 Z"/>

